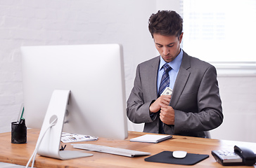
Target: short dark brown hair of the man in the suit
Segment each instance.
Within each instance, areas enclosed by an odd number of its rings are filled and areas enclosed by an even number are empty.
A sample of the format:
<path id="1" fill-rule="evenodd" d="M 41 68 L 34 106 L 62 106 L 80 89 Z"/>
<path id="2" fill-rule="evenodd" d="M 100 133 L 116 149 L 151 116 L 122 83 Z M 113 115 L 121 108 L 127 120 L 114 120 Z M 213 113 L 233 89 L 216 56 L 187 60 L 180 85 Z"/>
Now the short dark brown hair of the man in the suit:
<path id="1" fill-rule="evenodd" d="M 148 20 L 148 29 L 152 38 L 153 34 L 179 37 L 182 27 L 183 19 L 173 10 L 158 10 L 158 13 L 153 13 Z"/>

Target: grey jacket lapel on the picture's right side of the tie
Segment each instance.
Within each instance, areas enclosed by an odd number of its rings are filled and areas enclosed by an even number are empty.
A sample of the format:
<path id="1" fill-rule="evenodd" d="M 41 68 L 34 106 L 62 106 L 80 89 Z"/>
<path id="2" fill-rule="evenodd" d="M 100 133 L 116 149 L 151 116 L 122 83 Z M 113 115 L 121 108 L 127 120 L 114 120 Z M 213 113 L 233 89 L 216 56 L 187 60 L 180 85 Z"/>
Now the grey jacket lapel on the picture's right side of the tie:
<path id="1" fill-rule="evenodd" d="M 172 99 L 169 103 L 173 108 L 176 106 L 179 101 L 179 97 L 184 90 L 184 87 L 188 81 L 188 77 L 190 76 L 190 72 L 188 69 L 190 68 L 190 59 L 186 52 L 183 53 L 183 58 L 181 62 L 181 67 L 179 68 L 179 73 L 177 75 L 177 79 L 174 84 Z"/>

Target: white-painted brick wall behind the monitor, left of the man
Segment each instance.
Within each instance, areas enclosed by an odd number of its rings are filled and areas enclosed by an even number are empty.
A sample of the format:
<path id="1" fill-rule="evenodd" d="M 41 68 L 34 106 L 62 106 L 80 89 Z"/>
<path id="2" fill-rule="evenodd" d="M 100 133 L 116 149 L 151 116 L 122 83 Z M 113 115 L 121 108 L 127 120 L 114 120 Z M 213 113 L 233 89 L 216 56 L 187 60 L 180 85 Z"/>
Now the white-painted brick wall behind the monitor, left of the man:
<path id="1" fill-rule="evenodd" d="M 11 130 L 23 102 L 20 46 L 122 43 L 129 95 L 136 64 L 155 56 L 151 13 L 148 0 L 1 0 L 0 132 Z"/>

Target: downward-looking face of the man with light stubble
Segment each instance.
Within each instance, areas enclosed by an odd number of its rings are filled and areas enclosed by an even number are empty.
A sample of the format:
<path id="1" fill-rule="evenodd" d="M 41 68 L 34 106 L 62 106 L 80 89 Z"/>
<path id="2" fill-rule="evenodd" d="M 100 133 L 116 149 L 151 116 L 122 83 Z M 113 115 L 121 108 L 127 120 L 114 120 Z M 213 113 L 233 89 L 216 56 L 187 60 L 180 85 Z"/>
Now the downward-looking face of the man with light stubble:
<path id="1" fill-rule="evenodd" d="M 163 36 L 161 34 L 153 34 L 155 48 L 160 53 L 165 62 L 172 62 L 180 52 L 180 44 L 183 33 L 179 36 Z"/>

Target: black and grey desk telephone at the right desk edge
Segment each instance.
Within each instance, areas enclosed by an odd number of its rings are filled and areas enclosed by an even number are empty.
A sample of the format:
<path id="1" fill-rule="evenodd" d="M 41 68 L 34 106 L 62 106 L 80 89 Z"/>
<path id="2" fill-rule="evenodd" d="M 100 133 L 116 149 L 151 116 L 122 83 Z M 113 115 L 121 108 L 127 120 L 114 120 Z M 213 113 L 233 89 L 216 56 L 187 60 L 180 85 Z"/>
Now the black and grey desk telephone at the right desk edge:
<path id="1" fill-rule="evenodd" d="M 252 166 L 256 162 L 256 155 L 248 148 L 233 147 L 234 151 L 212 151 L 212 156 L 224 166 L 247 165 Z"/>

